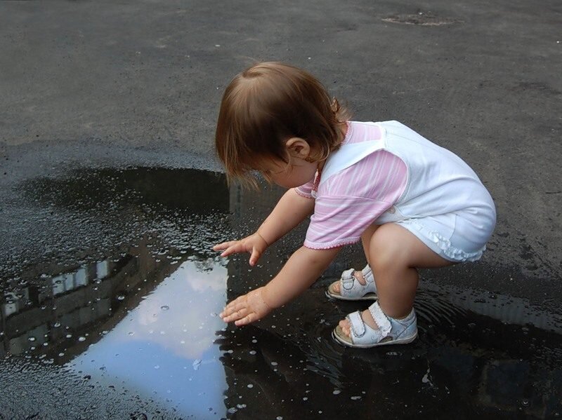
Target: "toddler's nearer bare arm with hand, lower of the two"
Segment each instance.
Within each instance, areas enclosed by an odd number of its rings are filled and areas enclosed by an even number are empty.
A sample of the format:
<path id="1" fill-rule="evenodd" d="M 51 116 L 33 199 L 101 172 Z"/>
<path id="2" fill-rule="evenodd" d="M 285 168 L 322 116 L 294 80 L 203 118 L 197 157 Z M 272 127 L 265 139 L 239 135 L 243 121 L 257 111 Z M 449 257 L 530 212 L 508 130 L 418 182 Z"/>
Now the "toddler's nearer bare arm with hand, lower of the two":
<path id="1" fill-rule="evenodd" d="M 267 285 L 230 302 L 221 313 L 221 318 L 226 323 L 234 321 L 236 325 L 247 325 L 263 318 L 312 285 L 340 248 L 313 250 L 301 247 Z"/>

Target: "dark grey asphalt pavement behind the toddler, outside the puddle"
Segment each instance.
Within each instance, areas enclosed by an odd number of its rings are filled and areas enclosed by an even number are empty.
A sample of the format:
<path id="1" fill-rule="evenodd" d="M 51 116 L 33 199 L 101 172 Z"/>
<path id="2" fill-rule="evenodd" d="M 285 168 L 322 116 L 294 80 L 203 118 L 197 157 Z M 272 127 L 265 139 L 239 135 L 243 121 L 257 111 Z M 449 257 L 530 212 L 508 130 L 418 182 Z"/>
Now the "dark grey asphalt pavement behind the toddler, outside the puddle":
<path id="1" fill-rule="evenodd" d="M 455 151 L 488 187 L 498 222 L 485 257 L 427 278 L 560 315 L 561 27 L 555 0 L 2 1 L 0 282 L 48 264 L 46 247 L 62 261 L 83 245 L 64 215 L 35 216 L 26 182 L 216 170 L 223 89 L 254 60 L 280 60 L 318 76 L 353 119 L 397 119 Z"/>

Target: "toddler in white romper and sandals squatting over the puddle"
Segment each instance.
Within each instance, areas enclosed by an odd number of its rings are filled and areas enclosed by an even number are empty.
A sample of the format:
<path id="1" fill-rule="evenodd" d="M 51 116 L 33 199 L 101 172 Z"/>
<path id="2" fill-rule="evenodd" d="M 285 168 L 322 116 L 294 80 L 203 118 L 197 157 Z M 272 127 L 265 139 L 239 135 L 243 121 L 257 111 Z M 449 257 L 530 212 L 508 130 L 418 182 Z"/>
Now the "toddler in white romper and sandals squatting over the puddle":
<path id="1" fill-rule="evenodd" d="M 255 171 L 287 188 L 259 229 L 214 246 L 249 252 L 311 216 L 303 246 L 270 282 L 230 302 L 227 323 L 247 325 L 301 294 L 344 245 L 362 242 L 367 265 L 329 285 L 328 297 L 371 299 L 332 336 L 345 346 L 406 344 L 417 337 L 419 268 L 476 261 L 495 226 L 495 206 L 461 158 L 397 121 L 348 121 L 308 72 L 263 62 L 235 76 L 223 95 L 216 151 L 229 179 Z"/>

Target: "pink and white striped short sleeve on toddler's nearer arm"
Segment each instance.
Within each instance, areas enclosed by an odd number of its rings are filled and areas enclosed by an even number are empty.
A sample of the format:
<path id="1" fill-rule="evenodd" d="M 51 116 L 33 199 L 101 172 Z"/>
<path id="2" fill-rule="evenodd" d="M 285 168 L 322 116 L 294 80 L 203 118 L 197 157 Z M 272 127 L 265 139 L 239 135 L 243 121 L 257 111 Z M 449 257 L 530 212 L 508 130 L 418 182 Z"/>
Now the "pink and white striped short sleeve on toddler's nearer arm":
<path id="1" fill-rule="evenodd" d="M 379 150 L 320 185 L 307 248 L 327 249 L 360 241 L 361 234 L 403 194 L 405 163 Z"/>

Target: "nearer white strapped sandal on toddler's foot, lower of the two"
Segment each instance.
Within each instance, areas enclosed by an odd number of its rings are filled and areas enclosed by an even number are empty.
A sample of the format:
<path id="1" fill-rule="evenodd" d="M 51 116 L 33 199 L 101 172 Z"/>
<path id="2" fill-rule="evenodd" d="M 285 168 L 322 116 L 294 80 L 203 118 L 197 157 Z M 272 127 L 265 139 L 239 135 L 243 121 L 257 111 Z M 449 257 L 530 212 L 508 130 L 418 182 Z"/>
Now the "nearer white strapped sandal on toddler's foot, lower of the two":
<path id="1" fill-rule="evenodd" d="M 381 310 L 379 302 L 374 302 L 369 306 L 369 311 L 379 325 L 378 330 L 365 324 L 361 318 L 361 312 L 357 311 L 346 316 L 351 325 L 351 337 L 344 334 L 338 325 L 332 332 L 334 340 L 348 347 L 369 348 L 386 344 L 408 344 L 416 339 L 417 318 L 414 309 L 406 318 L 402 319 L 386 316 Z"/>

